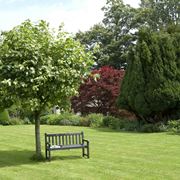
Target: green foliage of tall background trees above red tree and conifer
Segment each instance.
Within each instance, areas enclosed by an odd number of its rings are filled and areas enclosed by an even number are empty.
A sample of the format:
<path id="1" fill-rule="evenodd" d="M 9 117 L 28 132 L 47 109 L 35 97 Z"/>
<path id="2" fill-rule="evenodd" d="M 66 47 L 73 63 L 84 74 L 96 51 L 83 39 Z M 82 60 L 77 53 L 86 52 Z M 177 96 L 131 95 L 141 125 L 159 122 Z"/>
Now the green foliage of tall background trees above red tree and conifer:
<path id="1" fill-rule="evenodd" d="M 136 32 L 144 27 L 154 31 L 180 23 L 179 0 L 141 0 L 140 8 L 132 8 L 122 0 L 107 0 L 102 8 L 104 19 L 86 32 L 78 32 L 76 39 L 91 50 L 99 46 L 97 67 L 126 68 L 128 52 L 137 40 Z"/>

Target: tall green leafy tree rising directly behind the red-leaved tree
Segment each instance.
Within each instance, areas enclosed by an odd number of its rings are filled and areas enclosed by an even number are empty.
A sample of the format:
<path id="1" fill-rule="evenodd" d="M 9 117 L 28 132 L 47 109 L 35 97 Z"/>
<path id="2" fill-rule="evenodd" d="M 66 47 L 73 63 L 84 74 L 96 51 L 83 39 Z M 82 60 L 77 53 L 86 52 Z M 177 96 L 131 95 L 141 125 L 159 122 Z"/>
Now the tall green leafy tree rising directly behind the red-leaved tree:
<path id="1" fill-rule="evenodd" d="M 89 31 L 77 33 L 76 38 L 88 48 L 96 43 L 100 46 L 100 51 L 95 54 L 98 67 L 124 68 L 128 48 L 134 41 L 132 29 L 136 25 L 136 9 L 121 0 L 108 0 L 102 10 L 103 22 Z"/>

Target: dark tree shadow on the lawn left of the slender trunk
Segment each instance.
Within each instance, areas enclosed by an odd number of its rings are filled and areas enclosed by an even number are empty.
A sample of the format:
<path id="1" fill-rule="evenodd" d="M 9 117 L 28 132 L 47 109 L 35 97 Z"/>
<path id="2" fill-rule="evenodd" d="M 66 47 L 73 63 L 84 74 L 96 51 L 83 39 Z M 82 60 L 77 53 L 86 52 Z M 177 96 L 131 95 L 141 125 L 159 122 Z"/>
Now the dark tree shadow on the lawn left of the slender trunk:
<path id="1" fill-rule="evenodd" d="M 0 168 L 6 166 L 18 166 L 23 164 L 35 164 L 37 162 L 31 160 L 34 151 L 28 150 L 0 150 Z"/>

